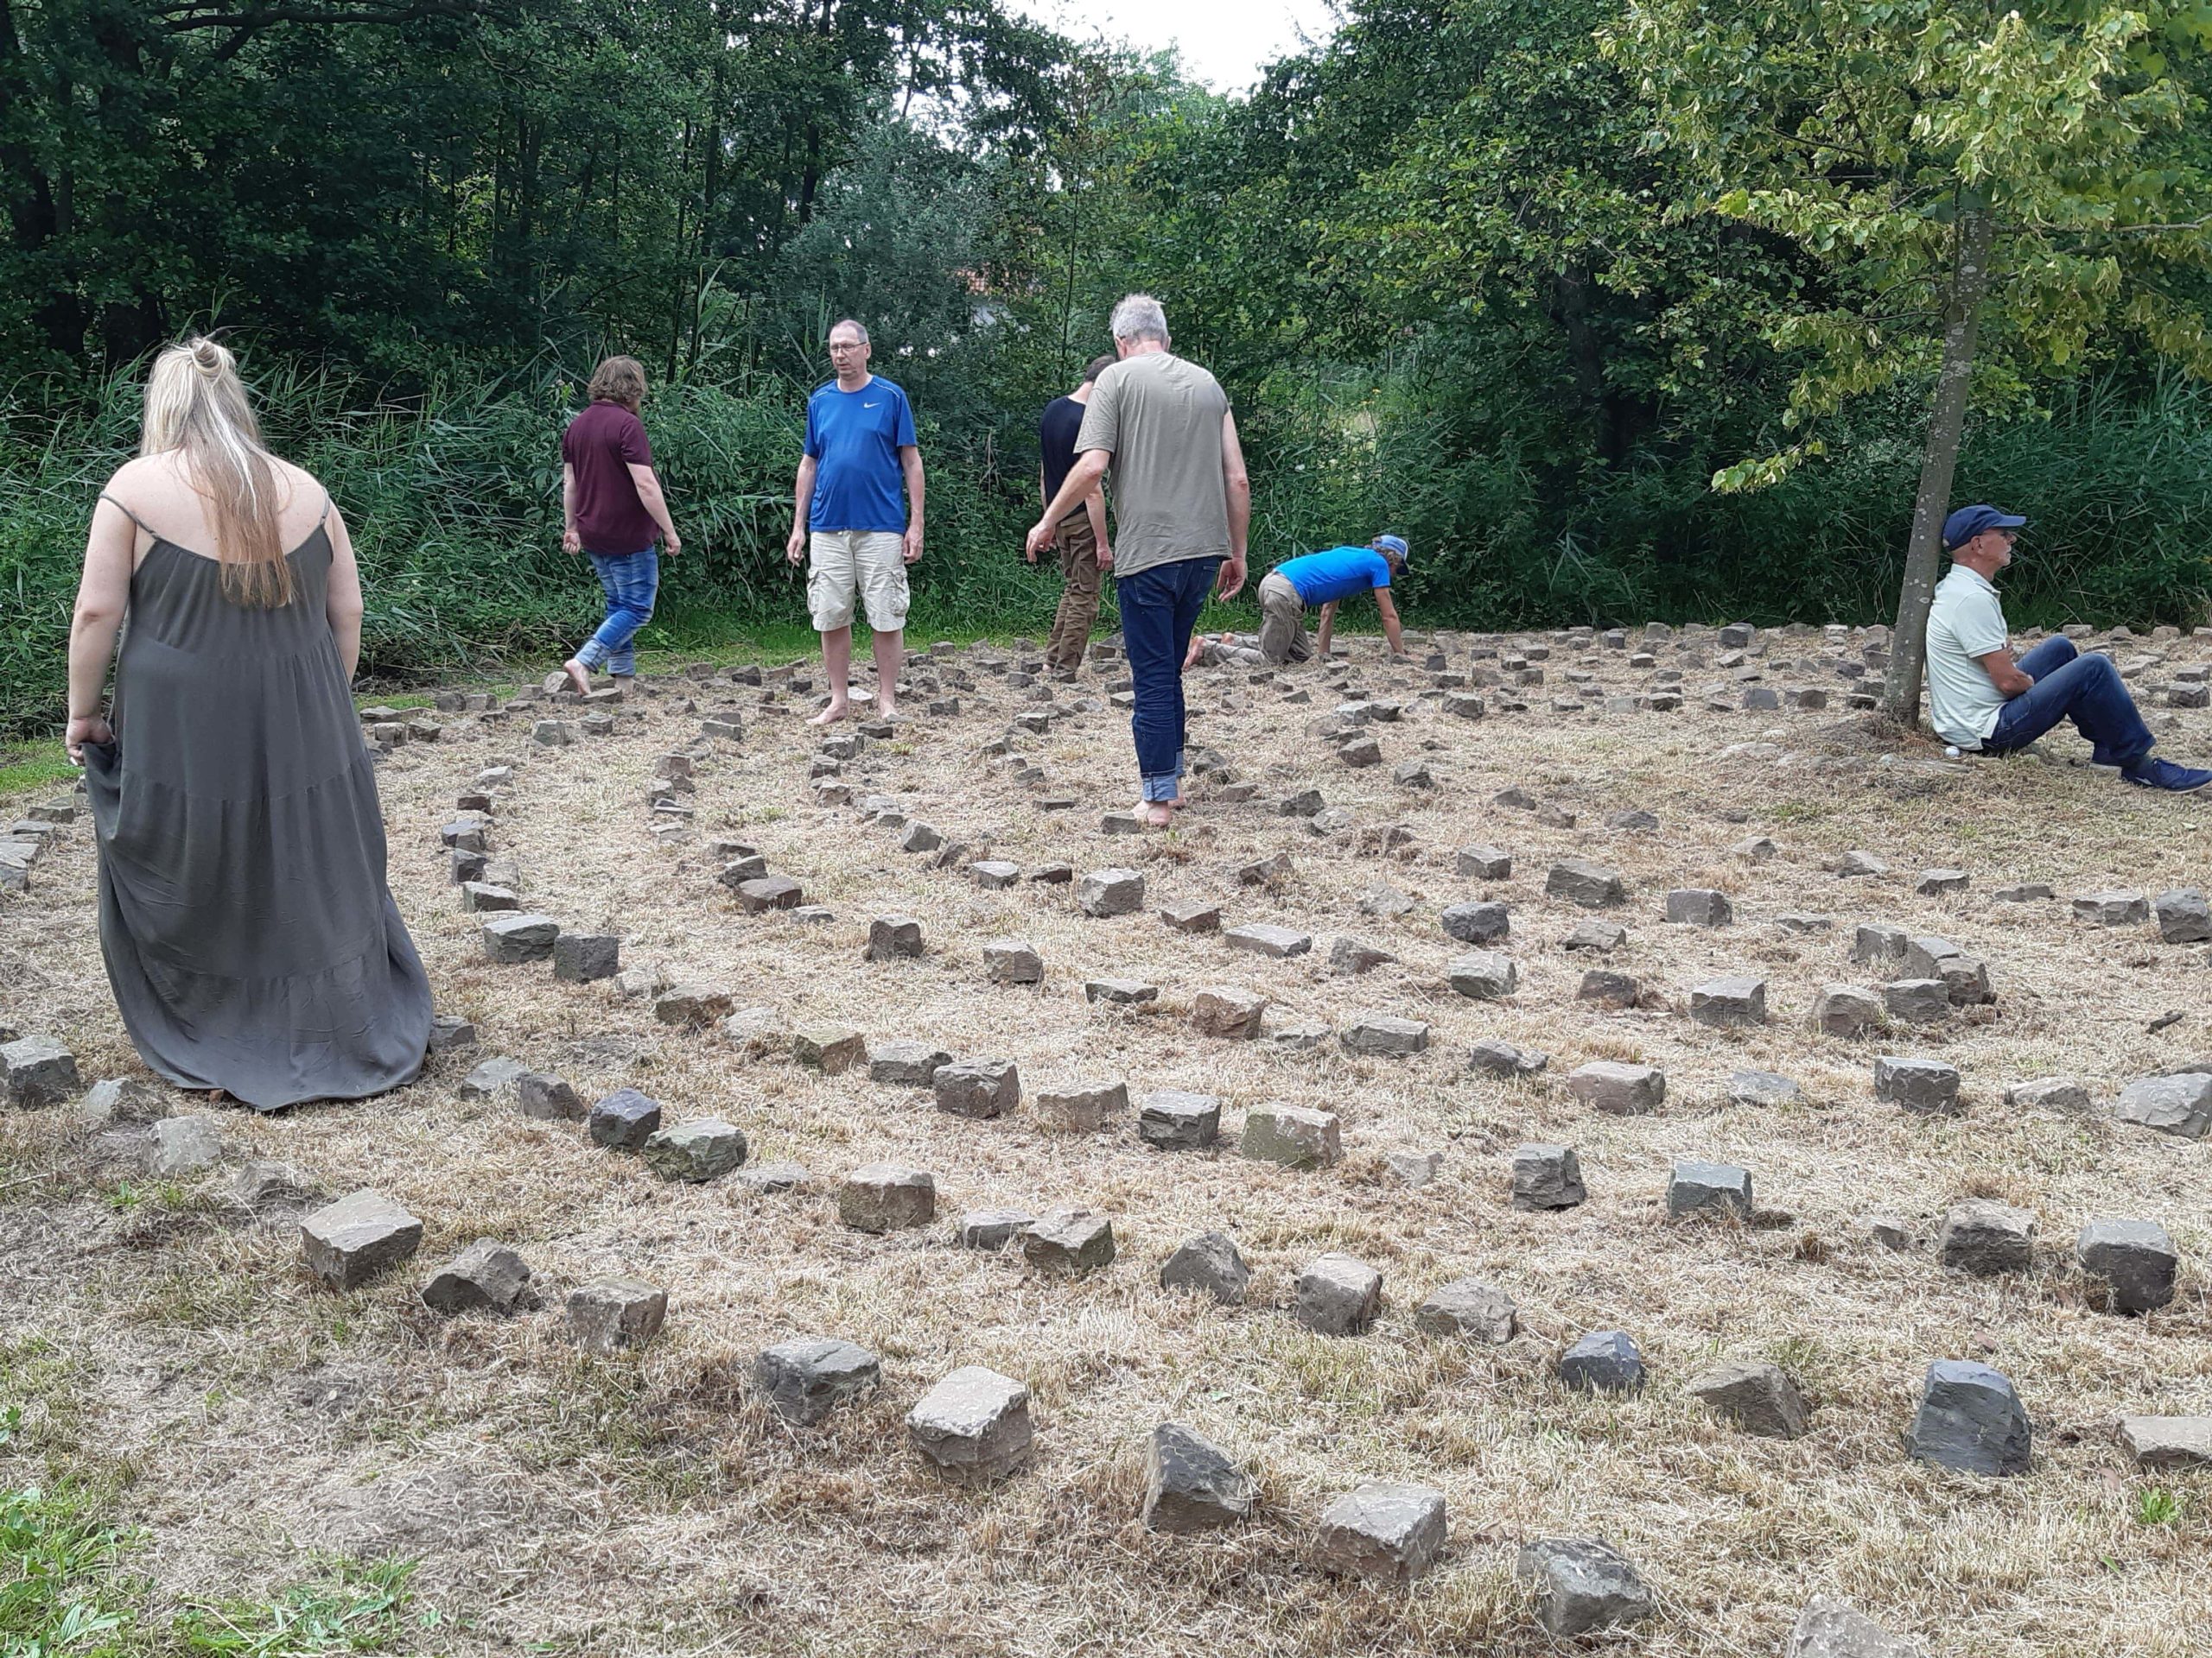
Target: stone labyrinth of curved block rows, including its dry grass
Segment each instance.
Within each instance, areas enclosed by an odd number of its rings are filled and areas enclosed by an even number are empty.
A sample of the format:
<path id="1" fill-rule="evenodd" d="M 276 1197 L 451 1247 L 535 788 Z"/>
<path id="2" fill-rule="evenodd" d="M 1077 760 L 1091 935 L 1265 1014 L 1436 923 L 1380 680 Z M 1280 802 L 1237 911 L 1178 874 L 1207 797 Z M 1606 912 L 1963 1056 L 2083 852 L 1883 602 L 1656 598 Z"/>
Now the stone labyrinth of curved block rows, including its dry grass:
<path id="1" fill-rule="evenodd" d="M 2212 752 L 2212 630 L 2070 632 Z M 1885 745 L 1885 646 L 1219 648 L 1168 833 L 1113 646 L 369 707 L 434 1054 L 272 1119 L 15 805 L 4 1335 L 184 1578 L 458 1649 L 2199 1651 L 2212 802 Z"/>

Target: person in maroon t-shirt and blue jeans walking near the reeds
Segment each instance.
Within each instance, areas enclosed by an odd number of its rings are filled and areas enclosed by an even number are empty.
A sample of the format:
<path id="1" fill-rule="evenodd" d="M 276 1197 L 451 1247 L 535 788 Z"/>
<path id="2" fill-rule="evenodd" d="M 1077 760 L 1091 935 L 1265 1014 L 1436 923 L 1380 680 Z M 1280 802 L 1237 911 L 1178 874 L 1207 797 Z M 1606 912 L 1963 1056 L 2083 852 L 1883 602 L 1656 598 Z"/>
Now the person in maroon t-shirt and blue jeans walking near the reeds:
<path id="1" fill-rule="evenodd" d="M 653 444 L 637 418 L 644 400 L 644 367 L 635 356 L 611 356 L 591 376 L 591 407 L 562 433 L 560 504 L 566 528 L 560 544 L 591 555 L 606 590 L 606 621 L 557 674 L 546 674 L 546 690 L 566 683 L 588 692 L 591 674 L 602 665 L 615 679 L 637 672 L 630 641 L 653 621 L 653 599 L 661 588 L 661 559 L 653 544 L 664 542 L 668 557 L 684 550 L 653 471 Z"/>

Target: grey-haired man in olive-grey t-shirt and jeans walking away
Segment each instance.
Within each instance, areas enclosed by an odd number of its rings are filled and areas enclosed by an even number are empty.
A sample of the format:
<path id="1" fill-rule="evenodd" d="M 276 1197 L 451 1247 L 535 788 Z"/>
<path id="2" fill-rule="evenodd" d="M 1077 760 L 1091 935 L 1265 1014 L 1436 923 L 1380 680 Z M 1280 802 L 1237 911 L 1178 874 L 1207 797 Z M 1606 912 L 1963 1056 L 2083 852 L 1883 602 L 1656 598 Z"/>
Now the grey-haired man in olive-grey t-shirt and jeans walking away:
<path id="1" fill-rule="evenodd" d="M 1130 294 L 1115 305 L 1113 340 L 1121 360 L 1091 387 L 1075 466 L 1029 531 L 1029 550 L 1053 539 L 1099 475 L 1113 478 L 1113 573 L 1144 778 L 1137 818 L 1166 829 L 1183 798 L 1183 654 L 1206 595 L 1243 588 L 1252 484 L 1221 382 L 1168 349 L 1159 301 Z"/>

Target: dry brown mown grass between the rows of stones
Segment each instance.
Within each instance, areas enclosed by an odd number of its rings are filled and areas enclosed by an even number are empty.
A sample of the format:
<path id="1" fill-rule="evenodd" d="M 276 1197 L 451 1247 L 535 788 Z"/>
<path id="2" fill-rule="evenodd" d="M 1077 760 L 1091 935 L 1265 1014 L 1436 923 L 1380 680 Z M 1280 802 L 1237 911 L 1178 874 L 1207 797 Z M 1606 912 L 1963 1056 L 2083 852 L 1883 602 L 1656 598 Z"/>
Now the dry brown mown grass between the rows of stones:
<path id="1" fill-rule="evenodd" d="M 1418 674 L 1367 657 L 1358 679 L 1409 696 Z M 1774 657 L 1816 643 L 1774 641 Z M 2203 654 L 2203 646 L 2177 654 Z M 1566 652 L 1551 668 L 1641 681 L 1619 654 Z M 1557 679 L 1557 672 L 1553 674 Z M 1263 796 L 1318 785 L 1363 825 L 1405 822 L 1411 858 L 1360 858 L 1263 805 L 1199 802 L 1166 840 L 1106 840 L 1102 809 L 1126 805 L 1119 714 L 1075 718 L 1018 741 L 1082 798 L 1048 816 L 975 754 L 1020 692 L 978 676 L 960 721 L 916 718 L 898 745 L 854 767 L 949 836 L 1024 864 L 1137 864 L 1146 913 L 1091 922 L 1068 889 L 980 891 L 902 856 L 896 833 L 805 791 L 810 734 L 787 705 L 752 712 L 741 747 L 701 763 L 699 840 L 655 847 L 644 787 L 653 758 L 697 725 L 677 692 L 639 699 L 613 738 L 535 749 L 529 727 L 451 718 L 438 747 L 383 769 L 392 884 L 429 962 L 440 1006 L 478 1021 L 482 1052 L 568 1077 L 595 1096 L 635 1083 L 672 1116 L 721 1114 L 754 1161 L 799 1161 L 816 1185 L 761 1196 L 721 1180 L 668 1187 L 635 1161 L 593 1152 L 571 1127 L 456 1094 L 451 1061 L 389 1099 L 259 1121 L 226 1116 L 237 1152 L 316 1172 L 332 1192 L 374 1185 L 427 1222 L 416 1269 L 354 1295 L 312 1289 L 281 1229 L 237 1225 L 195 1189 L 161 1192 L 86 1163 L 75 1112 L 0 1121 L 0 1379 L 29 1406 L 11 1452 L 58 1457 L 126 1481 L 170 1592 L 252 1592 L 288 1581 L 316 1550 L 420 1556 L 418 1592 L 460 1623 L 442 1651 L 557 1654 L 1323 1654 L 1349 1647 L 1535 1654 L 1511 1550 L 1548 1532 L 1599 1534 L 1635 1559 L 1661 1616 L 1624 1636 L 1641 1654 L 1772 1654 L 1814 1592 L 1858 1598 L 1940 1654 L 2201 1651 L 2212 1596 L 2197 1559 L 2212 1481 L 2152 1479 L 2126 1463 L 2112 1421 L 2212 1410 L 2212 1150 L 2088 1119 L 2002 1105 L 2011 1081 L 2075 1074 L 2099 1101 L 2143 1070 L 2201 1052 L 2205 948 L 2161 946 L 2148 928 L 2077 928 L 2064 895 L 2124 884 L 2208 884 L 2212 802 L 2152 798 L 2090 772 L 2004 763 L 1964 778 L 1913 769 L 1818 772 L 1741 756 L 1774 741 L 1849 754 L 1863 741 L 1823 714 L 1531 714 L 1480 725 L 1416 710 L 1383 725 L 1385 765 L 1347 772 L 1305 736 L 1310 707 L 1241 670 L 1192 676 L 1194 743 L 1223 749 Z M 1690 674 L 1692 685 L 1701 681 Z M 1770 670 L 1770 683 L 1816 683 Z M 752 696 L 750 692 L 739 692 Z M 719 701 L 719 699 L 717 699 Z M 706 705 L 706 699 L 701 701 Z M 918 701 L 916 701 L 918 710 Z M 2177 754 L 2212 752 L 2205 716 L 2183 716 Z M 1429 747 L 1433 745 L 1433 747 Z M 2053 741 L 2070 752 L 2073 738 Z M 1924 754 L 1924 749 L 1916 749 Z M 1409 796 L 1389 765 L 1429 760 L 1436 794 Z M 677 1032 L 613 984 L 555 984 L 546 968 L 493 968 L 445 882 L 436 827 L 456 787 L 493 758 L 520 763 L 498 849 L 522 862 L 526 900 L 580 928 L 624 933 L 628 964 L 730 986 L 739 1006 L 792 1021 L 838 1021 L 874 1039 L 931 1039 L 956 1054 L 1020 1061 L 1024 1090 L 1126 1077 L 1133 1094 L 1197 1088 L 1243 1108 L 1283 1099 L 1343 1114 L 1347 1161 L 1321 1174 L 1214 1156 L 1166 1156 L 1133 1123 L 1102 1136 L 1040 1132 L 1029 1112 L 995 1123 L 938 1114 L 927 1096 L 821 1079 L 783 1059 L 745 1061 L 714 1032 Z M 1579 814 L 1544 829 L 1489 805 L 1522 785 Z M 13 805 L 13 802 L 11 802 Z M 1606 811 L 1648 807 L 1659 833 L 1615 833 Z M 1723 818 L 1739 809 L 1745 820 Z M 799 875 L 832 924 L 743 917 L 712 880 L 703 842 L 737 833 Z M 1752 867 L 1728 847 L 1772 833 L 1783 853 Z M 1444 986 L 1458 953 L 1436 911 L 1475 893 L 1453 873 L 1458 844 L 1515 853 L 1484 889 L 1513 904 L 1511 1004 L 1478 1006 Z M 1276 889 L 1230 871 L 1287 847 Z M 1893 873 L 1840 882 L 1825 858 L 1867 847 Z M 1659 1008 L 1599 1012 L 1573 999 L 1586 966 L 1557 940 L 1579 911 L 1544 900 L 1553 858 L 1617 864 L 1632 902 L 1613 959 L 1659 993 Z M 1975 878 L 1958 900 L 1911 893 L 1918 869 Z M 69 1039 L 88 1077 L 133 1074 L 100 970 L 93 853 L 84 829 L 38 869 L 29 898 L 0 898 L 0 1015 Z M 1358 895 L 1389 880 L 1420 900 L 1383 922 Z M 2048 880 L 2057 904 L 2002 906 L 1989 889 Z M 1659 920 L 1668 886 L 1732 893 L 1736 924 L 1708 933 Z M 1314 933 L 1312 955 L 1263 962 L 1152 917 L 1177 898 L 1214 898 L 1228 922 L 1276 920 Z M 918 915 L 920 962 L 860 962 L 867 920 Z M 1836 917 L 1790 937 L 1783 911 Z M 1887 920 L 1984 955 L 1997 1017 L 1907 1032 L 1889 1043 L 1814 1037 L 1803 1017 L 1827 982 L 1865 984 L 1851 926 Z M 1329 940 L 1354 933 L 1398 966 L 1327 973 Z M 1046 984 L 995 988 L 982 944 L 1031 940 Z M 1703 977 L 1770 979 L 1772 1024 L 1714 1032 L 1683 1017 Z M 1150 977 L 1161 1004 L 1084 1004 L 1093 975 Z M 1287 1054 L 1190 1032 L 1203 984 L 1265 988 L 1283 1017 L 1343 1026 L 1360 1010 L 1429 1019 L 1413 1061 L 1325 1046 Z M 2181 1008 L 2152 1037 L 2146 1024 Z M 1506 1037 L 1553 1054 L 1526 1085 L 1471 1077 L 1464 1050 Z M 1960 1066 L 1969 1110 L 1913 1121 L 1871 1099 L 1878 1052 Z M 1586 1059 L 1644 1059 L 1668 1072 L 1666 1110 L 1582 1112 L 1559 1085 Z M 1725 1105 L 1728 1072 L 1796 1077 L 1787 1110 Z M 1579 1147 L 1590 1200 L 1559 1216 L 1504 1200 L 1511 1147 Z M 1396 1147 L 1442 1150 L 1420 1189 L 1380 1169 Z M 1659 1203 L 1674 1156 L 1745 1163 L 1776 1229 L 1668 1225 Z M 865 1238 L 836 1222 L 832 1183 L 858 1163 L 933 1169 L 940 1222 Z M 2008 1280 L 1947 1276 L 1922 1253 L 1878 1249 L 1856 1218 L 1893 1209 L 1933 1229 L 1962 1196 L 2000 1196 L 2042 1216 L 2042 1265 Z M 1077 1200 L 1113 1216 L 1117 1265 L 1084 1282 L 1037 1280 L 1018 1256 L 964 1253 L 967 1207 Z M 2090 1216 L 2166 1222 L 2183 1256 L 2179 1300 L 2148 1320 L 2090 1309 L 2070 1269 Z M 1256 1278 L 1241 1311 L 1166 1295 L 1161 1258 L 1188 1234 L 1239 1238 Z M 584 1360 L 557 1311 L 513 1322 L 440 1320 L 416 1289 L 476 1236 L 513 1242 L 549 1300 L 613 1269 L 670 1291 L 666 1335 L 641 1355 Z M 1325 1340 L 1285 1311 L 1298 1267 L 1323 1249 L 1385 1273 L 1389 1309 L 1360 1340 Z M 1524 1333 L 1464 1349 L 1411 1331 L 1440 1282 L 1506 1284 Z M 1632 1402 L 1559 1388 L 1553 1362 L 1584 1329 L 1635 1333 L 1652 1384 Z M 821 1430 L 768 1417 L 743 1388 L 763 1344 L 843 1335 L 876 1349 L 883 1393 Z M 1796 1444 L 1747 1439 L 1683 1395 L 1708 1362 L 1778 1360 L 1816 1404 Z M 2020 1386 L 2037 1426 L 2031 1475 L 1978 1481 L 1907 1461 L 1898 1448 L 1933 1357 L 1984 1357 Z M 900 1417 L 958 1364 L 989 1364 L 1035 1391 L 1035 1466 L 991 1492 L 931 1479 Z M 1261 1519 L 1234 1534 L 1161 1539 L 1137 1523 L 1144 1439 L 1190 1421 L 1237 1448 L 1261 1479 Z M 1451 1503 L 1449 1559 L 1411 1592 L 1318 1576 L 1310 1525 L 1365 1477 L 1418 1479 Z M 2183 1494 L 2172 1525 L 2146 1525 L 2137 1494 Z"/>

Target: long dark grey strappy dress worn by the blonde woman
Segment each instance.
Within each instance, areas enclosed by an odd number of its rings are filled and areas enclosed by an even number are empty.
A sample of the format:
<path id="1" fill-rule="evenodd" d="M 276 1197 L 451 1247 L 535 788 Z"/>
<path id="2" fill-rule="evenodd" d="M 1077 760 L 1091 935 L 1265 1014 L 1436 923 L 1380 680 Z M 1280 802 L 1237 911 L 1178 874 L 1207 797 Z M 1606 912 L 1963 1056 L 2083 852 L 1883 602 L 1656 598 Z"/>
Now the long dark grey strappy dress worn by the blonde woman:
<path id="1" fill-rule="evenodd" d="M 115 743 L 84 747 L 124 1028 L 173 1083 L 263 1112 L 414 1081 L 431 1021 L 323 610 L 327 528 L 288 557 L 292 601 L 248 610 L 215 559 L 155 535 L 131 577 Z"/>

